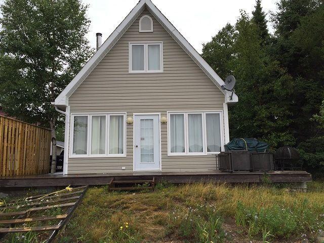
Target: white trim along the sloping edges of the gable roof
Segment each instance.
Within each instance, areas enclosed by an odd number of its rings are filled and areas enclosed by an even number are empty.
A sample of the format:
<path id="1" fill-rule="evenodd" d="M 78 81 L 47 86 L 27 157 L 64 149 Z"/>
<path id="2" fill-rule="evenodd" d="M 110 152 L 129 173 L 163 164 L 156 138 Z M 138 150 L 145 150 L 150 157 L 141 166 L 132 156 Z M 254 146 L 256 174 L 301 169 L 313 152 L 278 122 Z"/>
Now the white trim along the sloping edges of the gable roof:
<path id="1" fill-rule="evenodd" d="M 223 94 L 225 95 L 225 103 L 236 103 L 238 101 L 235 93 L 233 94 L 232 100 L 230 100 L 231 92 L 227 92 L 221 89 L 221 86 L 224 85 L 223 79 L 217 75 L 217 73 L 210 67 L 210 65 L 208 65 L 208 63 L 188 43 L 188 41 L 179 33 L 179 31 L 170 23 L 170 21 L 155 7 L 155 5 L 150 0 L 140 0 L 140 2 L 134 7 L 134 9 L 106 39 L 99 50 L 90 58 L 86 65 L 76 74 L 76 76 L 65 87 L 62 93 L 55 99 L 55 105 L 68 105 L 69 96 L 73 94 L 73 92 L 80 84 L 82 84 L 82 82 L 86 79 L 90 72 L 116 44 L 118 39 L 133 24 L 133 22 L 141 14 L 145 7 L 147 7 L 147 9 L 156 18 L 156 20 L 167 30 L 167 32 L 175 39 L 175 41 L 183 48 L 183 50 L 223 92 Z"/>

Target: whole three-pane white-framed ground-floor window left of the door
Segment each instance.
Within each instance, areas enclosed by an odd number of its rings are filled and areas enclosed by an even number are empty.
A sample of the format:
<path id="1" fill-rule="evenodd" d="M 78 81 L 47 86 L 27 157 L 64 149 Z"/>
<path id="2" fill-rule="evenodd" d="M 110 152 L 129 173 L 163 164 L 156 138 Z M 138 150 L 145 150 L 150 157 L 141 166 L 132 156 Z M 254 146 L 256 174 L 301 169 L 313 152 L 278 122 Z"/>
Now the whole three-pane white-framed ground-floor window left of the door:
<path id="1" fill-rule="evenodd" d="M 126 156 L 126 113 L 72 113 L 69 155 Z"/>

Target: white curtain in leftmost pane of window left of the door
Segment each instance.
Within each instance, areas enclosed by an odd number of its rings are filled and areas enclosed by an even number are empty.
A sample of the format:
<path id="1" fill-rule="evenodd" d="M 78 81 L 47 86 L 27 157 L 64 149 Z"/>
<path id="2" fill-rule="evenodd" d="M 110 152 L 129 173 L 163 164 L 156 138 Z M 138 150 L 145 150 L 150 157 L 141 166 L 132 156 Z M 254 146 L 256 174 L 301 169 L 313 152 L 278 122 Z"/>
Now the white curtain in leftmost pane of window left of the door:
<path id="1" fill-rule="evenodd" d="M 73 154 L 87 154 L 88 116 L 74 116 Z"/>

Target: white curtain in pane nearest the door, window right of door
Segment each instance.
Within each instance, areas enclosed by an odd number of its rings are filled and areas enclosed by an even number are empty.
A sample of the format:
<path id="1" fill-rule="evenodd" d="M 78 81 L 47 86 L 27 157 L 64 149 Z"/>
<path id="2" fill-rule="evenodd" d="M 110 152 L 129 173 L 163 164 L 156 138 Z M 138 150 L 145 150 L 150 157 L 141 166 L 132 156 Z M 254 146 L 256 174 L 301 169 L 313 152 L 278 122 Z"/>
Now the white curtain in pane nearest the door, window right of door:
<path id="1" fill-rule="evenodd" d="M 170 143 L 172 153 L 184 153 L 184 115 L 170 114 Z"/>

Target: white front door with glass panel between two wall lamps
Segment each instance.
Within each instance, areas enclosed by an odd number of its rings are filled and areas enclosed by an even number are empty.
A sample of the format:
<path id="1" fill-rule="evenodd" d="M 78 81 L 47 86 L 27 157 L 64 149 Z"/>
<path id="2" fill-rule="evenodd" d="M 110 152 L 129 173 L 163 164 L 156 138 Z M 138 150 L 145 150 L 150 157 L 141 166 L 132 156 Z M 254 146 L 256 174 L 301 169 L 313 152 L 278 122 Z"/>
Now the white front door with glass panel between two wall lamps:
<path id="1" fill-rule="evenodd" d="M 160 170 L 159 115 L 134 115 L 134 171 Z"/>

